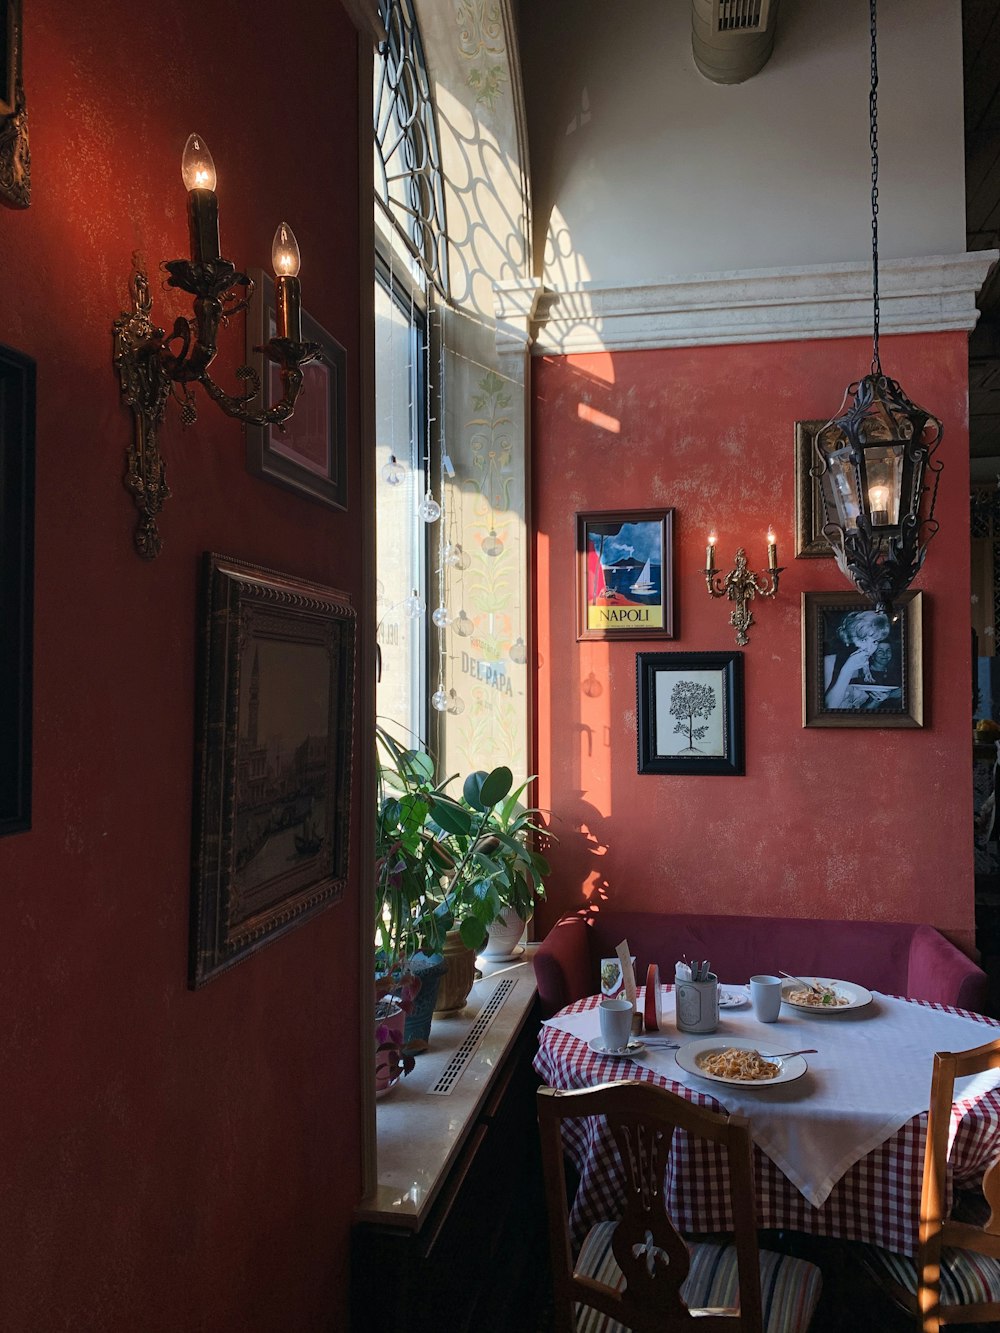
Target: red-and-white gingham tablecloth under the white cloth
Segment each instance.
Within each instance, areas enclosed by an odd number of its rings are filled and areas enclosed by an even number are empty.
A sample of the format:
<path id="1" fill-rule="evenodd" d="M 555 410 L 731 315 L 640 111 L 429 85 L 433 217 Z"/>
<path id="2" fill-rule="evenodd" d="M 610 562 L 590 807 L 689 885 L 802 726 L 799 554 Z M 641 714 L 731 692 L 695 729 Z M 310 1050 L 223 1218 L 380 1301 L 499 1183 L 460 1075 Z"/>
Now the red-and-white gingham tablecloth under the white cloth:
<path id="1" fill-rule="evenodd" d="M 600 996 L 589 996 L 568 1005 L 563 1013 L 579 1013 L 593 1008 L 599 1001 Z M 996 1020 L 984 1014 L 947 1005 L 931 1008 L 1000 1026 Z M 987 1033 L 985 1040 L 989 1040 Z M 928 1053 L 928 1093 L 931 1064 L 932 1053 Z M 591 1088 L 616 1078 L 636 1078 L 669 1088 L 699 1106 L 724 1109 L 708 1093 L 695 1092 L 685 1084 L 664 1078 L 656 1070 L 631 1061 L 596 1054 L 585 1041 L 556 1028 L 541 1029 L 535 1070 L 551 1088 Z M 951 1154 L 953 1185 L 975 1185 L 1000 1152 L 1000 1088 L 985 1093 L 973 1104 L 957 1102 L 952 1114 L 957 1122 Z M 820 1208 L 809 1204 L 755 1145 L 757 1225 L 764 1229 L 867 1241 L 900 1254 L 913 1254 L 917 1245 L 925 1138 L 927 1113 L 907 1121 L 879 1148 L 855 1162 Z M 624 1200 L 619 1188 L 620 1172 L 615 1169 L 616 1149 L 604 1117 L 564 1121 L 563 1140 L 580 1173 L 580 1186 L 571 1214 L 573 1237 L 580 1244 L 595 1222 L 621 1214 Z M 665 1197 L 667 1210 L 683 1232 L 732 1230 L 723 1149 L 677 1130 L 667 1166 Z"/>

